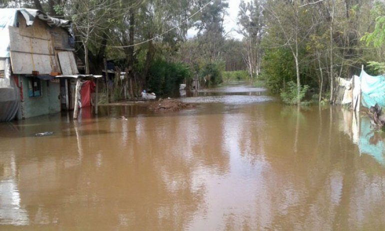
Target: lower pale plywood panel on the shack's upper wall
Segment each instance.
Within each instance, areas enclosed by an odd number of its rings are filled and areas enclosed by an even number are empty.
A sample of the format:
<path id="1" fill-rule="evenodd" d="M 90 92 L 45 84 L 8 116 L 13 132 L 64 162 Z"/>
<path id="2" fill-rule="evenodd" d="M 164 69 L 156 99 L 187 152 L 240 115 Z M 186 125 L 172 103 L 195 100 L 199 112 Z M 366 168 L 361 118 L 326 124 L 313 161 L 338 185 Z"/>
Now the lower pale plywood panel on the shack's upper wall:
<path id="1" fill-rule="evenodd" d="M 40 74 L 58 72 L 53 55 L 11 51 L 10 58 L 15 74 L 31 74 L 32 71 L 38 71 Z"/>

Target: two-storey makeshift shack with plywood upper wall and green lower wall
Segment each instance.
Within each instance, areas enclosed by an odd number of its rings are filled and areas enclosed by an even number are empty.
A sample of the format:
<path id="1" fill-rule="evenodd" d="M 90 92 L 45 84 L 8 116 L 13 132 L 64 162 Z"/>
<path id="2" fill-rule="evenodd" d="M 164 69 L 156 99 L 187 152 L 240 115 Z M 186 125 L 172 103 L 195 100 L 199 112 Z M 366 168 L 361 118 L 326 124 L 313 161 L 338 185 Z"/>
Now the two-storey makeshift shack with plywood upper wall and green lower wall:
<path id="1" fill-rule="evenodd" d="M 1 8 L 0 41 L 0 121 L 71 109 L 71 80 L 53 79 L 78 73 L 70 21 Z"/>

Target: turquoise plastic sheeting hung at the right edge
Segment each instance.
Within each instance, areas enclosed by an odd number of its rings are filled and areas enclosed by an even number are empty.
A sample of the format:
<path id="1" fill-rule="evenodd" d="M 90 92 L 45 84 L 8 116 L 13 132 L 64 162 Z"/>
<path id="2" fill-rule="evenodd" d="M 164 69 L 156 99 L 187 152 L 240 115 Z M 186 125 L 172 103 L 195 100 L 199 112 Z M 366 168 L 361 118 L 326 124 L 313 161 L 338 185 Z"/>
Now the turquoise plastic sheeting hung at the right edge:
<path id="1" fill-rule="evenodd" d="M 362 70 L 359 79 L 362 105 L 370 108 L 378 103 L 381 107 L 385 107 L 385 77 L 383 75 L 371 76 Z"/>

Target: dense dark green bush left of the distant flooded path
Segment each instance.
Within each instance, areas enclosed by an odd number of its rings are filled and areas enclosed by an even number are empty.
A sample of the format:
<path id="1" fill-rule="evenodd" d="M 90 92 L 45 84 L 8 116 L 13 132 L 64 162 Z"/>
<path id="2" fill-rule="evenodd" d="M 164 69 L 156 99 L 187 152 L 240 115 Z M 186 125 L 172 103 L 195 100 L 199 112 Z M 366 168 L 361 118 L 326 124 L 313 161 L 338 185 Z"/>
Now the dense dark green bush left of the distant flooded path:
<path id="1" fill-rule="evenodd" d="M 185 64 L 158 59 L 149 68 L 147 86 L 157 95 L 169 95 L 189 77 L 190 70 Z"/>

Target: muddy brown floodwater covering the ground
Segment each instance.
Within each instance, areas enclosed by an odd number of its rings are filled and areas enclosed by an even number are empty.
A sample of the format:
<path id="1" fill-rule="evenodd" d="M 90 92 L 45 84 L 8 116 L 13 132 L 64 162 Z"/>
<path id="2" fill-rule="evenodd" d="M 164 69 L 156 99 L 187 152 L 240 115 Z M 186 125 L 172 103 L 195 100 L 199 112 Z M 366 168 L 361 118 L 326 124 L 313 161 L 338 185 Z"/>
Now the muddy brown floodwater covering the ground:
<path id="1" fill-rule="evenodd" d="M 364 115 L 242 85 L 181 100 L 0 123 L 0 230 L 385 230 Z"/>

